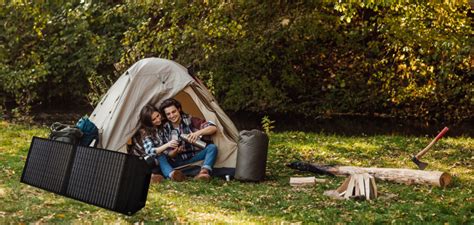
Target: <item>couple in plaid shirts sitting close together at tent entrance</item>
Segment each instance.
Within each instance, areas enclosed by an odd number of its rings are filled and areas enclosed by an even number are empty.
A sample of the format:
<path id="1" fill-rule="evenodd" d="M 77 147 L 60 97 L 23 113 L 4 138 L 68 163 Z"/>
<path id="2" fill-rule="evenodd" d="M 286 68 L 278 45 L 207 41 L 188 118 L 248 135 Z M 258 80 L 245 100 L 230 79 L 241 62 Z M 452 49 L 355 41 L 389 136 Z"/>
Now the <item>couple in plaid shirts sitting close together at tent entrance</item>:
<path id="1" fill-rule="evenodd" d="M 162 120 L 162 115 L 167 121 Z M 145 105 L 140 113 L 143 147 L 148 155 L 159 161 L 163 175 L 173 181 L 185 180 L 184 174 L 176 167 L 204 160 L 196 180 L 209 181 L 217 157 L 217 147 L 207 144 L 204 149 L 195 145 L 196 141 L 209 138 L 217 132 L 211 121 L 192 117 L 182 111 L 181 103 L 167 99 L 160 105 L 160 110 L 153 105 Z M 182 141 L 180 134 L 188 134 L 187 141 Z M 162 178 L 156 178 L 159 181 Z"/>

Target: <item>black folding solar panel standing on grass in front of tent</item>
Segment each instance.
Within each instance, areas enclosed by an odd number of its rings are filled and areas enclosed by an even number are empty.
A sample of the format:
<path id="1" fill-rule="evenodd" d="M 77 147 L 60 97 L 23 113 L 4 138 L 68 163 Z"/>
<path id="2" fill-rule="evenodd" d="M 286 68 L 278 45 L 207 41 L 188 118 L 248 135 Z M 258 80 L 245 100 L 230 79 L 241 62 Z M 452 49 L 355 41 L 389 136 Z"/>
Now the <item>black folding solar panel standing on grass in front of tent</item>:
<path id="1" fill-rule="evenodd" d="M 33 137 L 21 182 L 131 215 L 145 206 L 150 176 L 137 156 Z"/>

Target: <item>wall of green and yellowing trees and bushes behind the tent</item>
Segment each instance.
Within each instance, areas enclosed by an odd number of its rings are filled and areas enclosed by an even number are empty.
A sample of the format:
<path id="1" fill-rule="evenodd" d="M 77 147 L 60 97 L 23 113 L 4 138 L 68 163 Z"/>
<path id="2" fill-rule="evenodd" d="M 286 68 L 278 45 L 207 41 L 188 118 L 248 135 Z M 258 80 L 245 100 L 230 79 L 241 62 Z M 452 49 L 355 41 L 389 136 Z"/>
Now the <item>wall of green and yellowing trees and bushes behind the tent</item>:
<path id="1" fill-rule="evenodd" d="M 6 4 L 0 100 L 94 104 L 133 63 L 161 57 L 196 68 L 229 111 L 460 121 L 474 111 L 469 10 L 466 0 Z"/>

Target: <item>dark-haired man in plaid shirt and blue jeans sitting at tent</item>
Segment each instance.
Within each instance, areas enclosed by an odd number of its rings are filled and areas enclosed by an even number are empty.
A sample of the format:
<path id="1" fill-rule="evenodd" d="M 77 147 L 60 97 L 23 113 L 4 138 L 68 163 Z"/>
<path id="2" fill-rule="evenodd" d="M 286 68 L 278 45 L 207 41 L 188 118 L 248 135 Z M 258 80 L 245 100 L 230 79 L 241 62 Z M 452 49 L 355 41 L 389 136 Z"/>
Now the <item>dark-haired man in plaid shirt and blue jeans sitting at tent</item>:
<path id="1" fill-rule="evenodd" d="M 168 122 L 163 125 L 164 137 L 166 141 L 176 139 L 174 134 L 188 134 L 188 142 L 180 142 L 175 148 L 168 148 L 159 157 L 160 168 L 165 176 L 174 179 L 181 177 L 179 170 L 174 167 L 190 164 L 196 161 L 204 160 L 201 171 L 195 176 L 196 180 L 209 181 L 211 172 L 217 157 L 217 147 L 214 144 L 208 144 L 204 149 L 193 145 L 201 137 L 209 138 L 217 132 L 216 125 L 211 121 L 192 117 L 182 111 L 181 103 L 176 99 L 170 98 L 163 101 L 160 111 L 166 116 Z"/>

